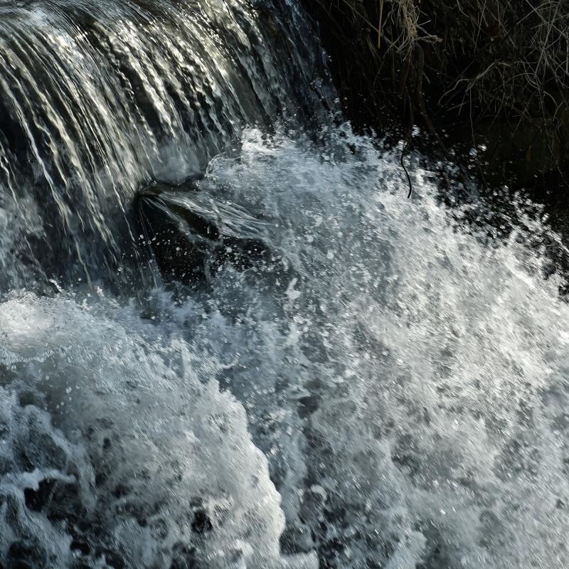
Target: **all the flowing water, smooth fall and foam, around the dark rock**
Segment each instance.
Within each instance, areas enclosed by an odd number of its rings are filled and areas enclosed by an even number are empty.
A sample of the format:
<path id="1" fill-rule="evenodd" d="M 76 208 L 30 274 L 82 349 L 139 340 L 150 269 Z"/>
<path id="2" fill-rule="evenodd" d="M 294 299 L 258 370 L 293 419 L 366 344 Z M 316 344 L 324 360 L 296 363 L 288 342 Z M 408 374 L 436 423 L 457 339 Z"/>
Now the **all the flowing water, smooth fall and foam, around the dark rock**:
<path id="1" fill-rule="evenodd" d="M 0 3 L 1 567 L 569 566 L 558 279 L 321 61 L 292 1 Z M 181 286 L 132 203 L 197 173 L 268 253 Z"/>

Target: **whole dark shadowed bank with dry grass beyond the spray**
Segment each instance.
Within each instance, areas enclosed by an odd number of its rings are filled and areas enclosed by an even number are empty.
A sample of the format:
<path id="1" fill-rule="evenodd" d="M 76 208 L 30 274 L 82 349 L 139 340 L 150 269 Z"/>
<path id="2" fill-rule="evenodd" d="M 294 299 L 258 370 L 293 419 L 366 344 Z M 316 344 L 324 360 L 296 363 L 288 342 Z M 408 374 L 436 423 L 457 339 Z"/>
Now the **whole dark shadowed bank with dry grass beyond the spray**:
<path id="1" fill-rule="evenodd" d="M 569 0 L 303 1 L 356 129 L 527 191 L 567 225 Z"/>

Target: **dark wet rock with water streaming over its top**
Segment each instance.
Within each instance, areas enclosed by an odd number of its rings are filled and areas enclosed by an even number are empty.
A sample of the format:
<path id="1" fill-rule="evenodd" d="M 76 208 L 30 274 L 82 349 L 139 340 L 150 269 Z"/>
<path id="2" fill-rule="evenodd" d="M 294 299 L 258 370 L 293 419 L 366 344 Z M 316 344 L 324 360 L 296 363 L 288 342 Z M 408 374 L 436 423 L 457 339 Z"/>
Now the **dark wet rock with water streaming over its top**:
<path id="1" fill-rule="evenodd" d="M 140 239 L 166 280 L 190 284 L 225 263 L 243 270 L 270 260 L 262 221 L 191 184 L 151 184 L 135 207 Z"/>

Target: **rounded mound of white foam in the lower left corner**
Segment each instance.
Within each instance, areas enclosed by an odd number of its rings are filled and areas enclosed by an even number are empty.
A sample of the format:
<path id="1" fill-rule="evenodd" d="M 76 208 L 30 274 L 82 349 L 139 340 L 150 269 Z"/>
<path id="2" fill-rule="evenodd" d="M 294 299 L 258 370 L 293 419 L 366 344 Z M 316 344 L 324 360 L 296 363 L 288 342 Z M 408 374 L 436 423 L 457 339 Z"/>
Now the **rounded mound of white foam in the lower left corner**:
<path id="1" fill-rule="evenodd" d="M 196 548 L 196 558 L 211 567 L 314 566 L 309 556 L 280 555 L 280 495 L 267 460 L 251 442 L 243 407 L 218 388 L 220 368 L 213 358 L 196 366 L 203 355 L 191 344 L 164 338 L 132 309 L 102 300 L 79 307 L 63 295 L 13 295 L 2 305 L 0 329 L 10 368 L 45 400 L 58 427 L 37 411 L 42 432 L 58 441 L 66 457 L 31 474 L 18 473 L 15 460 L 16 472 L 1 484 L 4 493 L 14 491 L 14 479 L 20 493 L 37 488 L 38 481 L 53 478 L 54 468 L 57 479 L 68 479 L 65 463 L 75 445 L 81 450 L 75 452 L 85 454 L 71 475 L 80 478 L 85 494 L 85 522 L 104 520 L 110 547 L 129 566 L 169 563 L 179 543 Z M 14 422 L 36 408 L 22 410 L 13 401 L 10 394 L 23 389 L 16 385 L 2 395 L 4 413 Z M 31 442 L 18 440 L 17 429 L 9 432 L 11 452 L 26 452 Z M 92 471 L 100 469 L 105 479 L 95 484 Z M 191 528 L 196 506 L 211 523 L 201 541 Z M 63 531 L 54 542 L 58 531 L 43 514 L 36 518 L 36 537 L 58 556 L 57 566 L 67 566 L 69 556 L 58 550 L 70 538 Z M 168 530 L 160 539 L 153 535 L 157 523 Z"/>

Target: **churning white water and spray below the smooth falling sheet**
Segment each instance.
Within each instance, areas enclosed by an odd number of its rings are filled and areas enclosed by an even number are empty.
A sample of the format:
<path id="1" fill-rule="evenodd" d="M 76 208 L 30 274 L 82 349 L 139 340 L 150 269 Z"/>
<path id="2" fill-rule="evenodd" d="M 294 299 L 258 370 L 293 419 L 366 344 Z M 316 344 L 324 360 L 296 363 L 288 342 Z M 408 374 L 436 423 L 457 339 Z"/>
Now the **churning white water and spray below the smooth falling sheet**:
<path id="1" fill-rule="evenodd" d="M 346 132 L 247 129 L 201 181 L 263 220 L 283 280 L 4 296 L 0 543 L 62 568 L 567 566 L 558 279 Z"/>

